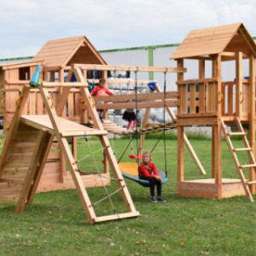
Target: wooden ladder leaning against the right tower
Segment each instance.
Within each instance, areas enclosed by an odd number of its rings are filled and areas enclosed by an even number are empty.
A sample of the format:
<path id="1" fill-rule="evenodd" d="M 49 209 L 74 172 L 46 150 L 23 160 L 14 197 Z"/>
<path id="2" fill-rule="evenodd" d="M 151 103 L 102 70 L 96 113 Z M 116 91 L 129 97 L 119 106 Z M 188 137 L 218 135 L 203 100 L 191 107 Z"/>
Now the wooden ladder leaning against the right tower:
<path id="1" fill-rule="evenodd" d="M 243 130 L 241 121 L 237 117 L 236 117 L 236 127 L 238 131 L 234 131 L 234 132 L 227 131 L 227 125 L 225 125 L 224 119 L 221 119 L 221 128 L 222 128 L 222 131 L 224 132 L 225 140 L 230 148 L 230 153 L 235 162 L 236 170 L 239 174 L 239 177 L 241 178 L 241 183 L 243 185 L 243 188 L 246 192 L 246 195 L 249 201 L 253 202 L 253 195 L 249 189 L 249 185 L 256 184 L 256 180 L 247 181 L 246 177 L 244 176 L 243 169 L 253 168 L 253 172 L 255 172 L 256 174 L 256 161 L 253 155 L 253 148 L 250 147 L 250 144 L 248 143 L 248 140 L 247 140 L 247 133 Z M 244 144 L 244 148 L 234 148 L 230 137 L 236 137 L 236 136 L 241 136 L 242 142 Z M 237 153 L 239 152 L 247 152 L 248 158 L 249 158 L 249 163 L 247 165 L 240 164 L 237 157 Z"/>

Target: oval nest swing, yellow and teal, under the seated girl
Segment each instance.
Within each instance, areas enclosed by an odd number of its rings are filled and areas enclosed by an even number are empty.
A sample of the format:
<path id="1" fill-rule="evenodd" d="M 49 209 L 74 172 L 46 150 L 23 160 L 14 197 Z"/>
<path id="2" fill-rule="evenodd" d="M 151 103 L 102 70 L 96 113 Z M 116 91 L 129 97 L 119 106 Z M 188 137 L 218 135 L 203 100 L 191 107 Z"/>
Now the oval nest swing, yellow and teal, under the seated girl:
<path id="1" fill-rule="evenodd" d="M 137 163 L 119 163 L 119 168 L 123 174 L 124 177 L 139 183 L 143 187 L 149 187 L 150 183 L 148 180 L 144 180 L 142 178 L 138 177 L 138 164 Z M 162 177 L 162 184 L 166 183 L 168 180 L 168 177 L 166 177 L 166 173 L 160 171 L 157 169 L 157 172 L 159 173 L 160 177 Z"/>

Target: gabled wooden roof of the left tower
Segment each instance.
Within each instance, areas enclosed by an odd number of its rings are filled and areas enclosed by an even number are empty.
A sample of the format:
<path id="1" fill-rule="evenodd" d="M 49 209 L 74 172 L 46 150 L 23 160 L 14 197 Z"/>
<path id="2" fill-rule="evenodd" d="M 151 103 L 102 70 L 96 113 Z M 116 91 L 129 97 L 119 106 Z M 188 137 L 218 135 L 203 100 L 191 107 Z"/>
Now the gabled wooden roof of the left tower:
<path id="1" fill-rule="evenodd" d="M 107 64 L 84 36 L 48 41 L 32 61 L 44 61 L 44 67 L 58 68 L 72 63 Z"/>

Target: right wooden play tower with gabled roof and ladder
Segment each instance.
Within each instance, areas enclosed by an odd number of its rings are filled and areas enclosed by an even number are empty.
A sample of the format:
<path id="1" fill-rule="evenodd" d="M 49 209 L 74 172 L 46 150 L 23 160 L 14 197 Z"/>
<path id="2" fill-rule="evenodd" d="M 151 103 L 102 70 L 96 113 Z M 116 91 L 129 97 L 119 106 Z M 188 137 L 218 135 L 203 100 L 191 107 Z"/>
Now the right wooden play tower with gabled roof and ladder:
<path id="1" fill-rule="evenodd" d="M 255 56 L 256 45 L 241 24 L 218 26 L 189 32 L 171 56 L 177 67 L 186 61 L 197 61 L 195 79 L 184 79 L 177 74 L 177 193 L 180 196 L 224 198 L 247 195 L 253 201 L 255 193 Z M 225 61 L 235 63 L 235 77 L 222 79 Z M 243 74 L 247 63 L 249 75 Z M 212 73 L 206 75 L 206 67 Z M 233 68 L 234 69 L 234 68 Z M 188 69 L 189 72 L 189 69 Z M 208 125 L 212 127 L 212 178 L 186 180 L 184 172 L 184 127 Z M 236 125 L 230 132 L 227 125 Z M 242 125 L 249 126 L 249 141 Z M 240 179 L 223 177 L 222 136 L 226 139 Z M 233 136 L 241 136 L 244 147 L 235 148 Z M 241 164 L 237 154 L 248 154 L 248 163 Z M 249 172 L 246 176 L 245 172 Z M 247 177 L 247 178 L 246 178 Z"/>

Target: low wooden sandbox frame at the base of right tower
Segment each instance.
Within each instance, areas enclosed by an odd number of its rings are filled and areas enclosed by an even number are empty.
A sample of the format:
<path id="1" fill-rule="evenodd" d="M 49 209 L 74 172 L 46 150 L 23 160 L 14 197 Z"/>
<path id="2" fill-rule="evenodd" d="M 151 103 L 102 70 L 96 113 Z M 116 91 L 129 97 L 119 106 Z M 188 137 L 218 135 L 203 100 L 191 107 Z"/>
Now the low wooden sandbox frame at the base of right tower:
<path id="1" fill-rule="evenodd" d="M 223 178 L 221 195 L 213 178 L 195 179 L 177 183 L 177 195 L 221 199 L 236 195 L 246 195 L 240 179 Z"/>

